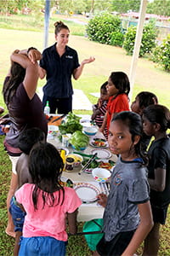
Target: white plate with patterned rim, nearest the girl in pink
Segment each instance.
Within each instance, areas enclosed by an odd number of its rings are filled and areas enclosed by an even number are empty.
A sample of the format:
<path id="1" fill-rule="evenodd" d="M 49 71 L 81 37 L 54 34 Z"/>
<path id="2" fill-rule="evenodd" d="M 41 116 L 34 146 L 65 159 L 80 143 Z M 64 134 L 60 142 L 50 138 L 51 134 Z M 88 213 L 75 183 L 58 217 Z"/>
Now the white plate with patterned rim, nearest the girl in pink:
<path id="1" fill-rule="evenodd" d="M 75 191 L 82 203 L 92 203 L 97 201 L 97 195 L 100 191 L 97 187 L 89 183 L 80 183 L 75 186 Z"/>

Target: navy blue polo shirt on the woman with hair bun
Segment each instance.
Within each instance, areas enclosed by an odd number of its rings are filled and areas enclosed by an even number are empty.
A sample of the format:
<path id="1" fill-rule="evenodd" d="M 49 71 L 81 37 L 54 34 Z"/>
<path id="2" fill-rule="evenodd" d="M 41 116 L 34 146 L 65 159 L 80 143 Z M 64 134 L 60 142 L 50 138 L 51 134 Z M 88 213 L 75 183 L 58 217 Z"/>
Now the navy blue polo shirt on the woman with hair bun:
<path id="1" fill-rule="evenodd" d="M 44 95 L 54 98 L 70 97 L 73 94 L 71 75 L 79 66 L 77 51 L 69 46 L 65 47 L 65 53 L 61 57 L 56 51 L 56 43 L 44 49 L 40 61 L 40 67 L 47 73 Z"/>

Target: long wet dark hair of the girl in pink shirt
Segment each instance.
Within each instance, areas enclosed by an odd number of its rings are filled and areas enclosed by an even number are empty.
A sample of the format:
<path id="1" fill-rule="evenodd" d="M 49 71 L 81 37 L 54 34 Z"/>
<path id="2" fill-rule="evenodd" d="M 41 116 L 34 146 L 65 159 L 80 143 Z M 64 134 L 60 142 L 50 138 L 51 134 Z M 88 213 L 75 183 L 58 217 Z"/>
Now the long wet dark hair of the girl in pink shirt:
<path id="1" fill-rule="evenodd" d="M 54 203 L 55 205 L 63 204 L 65 190 L 59 183 L 63 167 L 63 160 L 54 145 L 50 143 L 37 143 L 31 149 L 29 155 L 29 171 L 31 173 L 32 183 L 35 184 L 32 191 L 32 201 L 35 210 L 37 210 L 40 189 L 42 189 L 43 207 L 47 202 L 49 207 L 53 207 Z M 57 190 L 59 190 L 59 198 L 56 202 L 54 192 Z"/>

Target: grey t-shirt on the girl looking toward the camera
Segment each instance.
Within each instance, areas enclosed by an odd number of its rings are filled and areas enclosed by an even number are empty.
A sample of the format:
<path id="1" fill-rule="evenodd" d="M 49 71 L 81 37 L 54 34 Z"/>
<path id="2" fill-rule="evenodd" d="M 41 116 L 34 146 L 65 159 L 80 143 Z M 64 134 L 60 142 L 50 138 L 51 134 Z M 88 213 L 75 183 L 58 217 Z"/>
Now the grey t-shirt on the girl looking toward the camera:
<path id="1" fill-rule="evenodd" d="M 141 160 L 117 160 L 111 174 L 111 191 L 104 212 L 105 240 L 139 225 L 138 204 L 149 201 L 147 169 Z"/>

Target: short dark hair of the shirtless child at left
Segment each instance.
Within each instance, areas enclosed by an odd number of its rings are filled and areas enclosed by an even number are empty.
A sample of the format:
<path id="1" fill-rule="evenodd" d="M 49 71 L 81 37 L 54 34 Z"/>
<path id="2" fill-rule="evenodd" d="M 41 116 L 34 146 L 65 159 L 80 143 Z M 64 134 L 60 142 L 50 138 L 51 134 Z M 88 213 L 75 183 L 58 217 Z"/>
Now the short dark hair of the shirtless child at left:
<path id="1" fill-rule="evenodd" d="M 19 148 L 25 154 L 30 154 L 35 143 L 45 140 L 45 133 L 36 127 L 26 129 L 20 133 Z"/>

